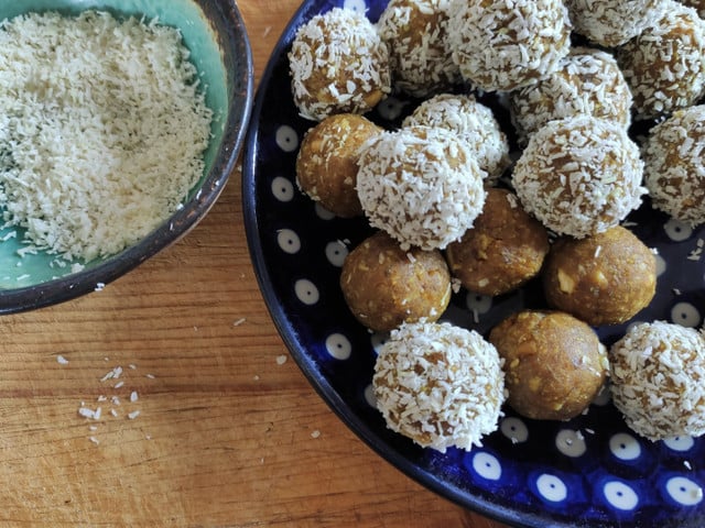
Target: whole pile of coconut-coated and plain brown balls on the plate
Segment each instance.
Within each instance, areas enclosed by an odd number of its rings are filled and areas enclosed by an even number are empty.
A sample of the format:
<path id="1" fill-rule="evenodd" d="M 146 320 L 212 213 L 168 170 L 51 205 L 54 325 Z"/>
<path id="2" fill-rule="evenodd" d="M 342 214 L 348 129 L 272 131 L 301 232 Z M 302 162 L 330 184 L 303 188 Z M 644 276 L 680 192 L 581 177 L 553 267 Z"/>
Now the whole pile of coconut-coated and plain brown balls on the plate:
<path id="1" fill-rule="evenodd" d="M 375 228 L 346 257 L 340 287 L 364 326 L 390 332 L 372 380 L 389 428 L 470 450 L 505 404 L 567 420 L 609 378 L 644 438 L 705 432 L 703 331 L 638 323 L 609 349 L 594 331 L 654 296 L 654 252 L 621 226 L 644 196 L 705 222 L 697 9 L 705 2 L 390 0 L 376 23 L 334 8 L 297 30 L 292 95 L 314 123 L 296 182 Z M 516 158 L 480 92 L 505 101 Z M 366 113 L 394 94 L 423 102 L 383 130 Z M 636 120 L 658 123 L 640 145 L 628 134 Z M 535 277 L 550 309 L 514 314 L 487 337 L 440 322 L 459 287 L 497 296 Z"/>

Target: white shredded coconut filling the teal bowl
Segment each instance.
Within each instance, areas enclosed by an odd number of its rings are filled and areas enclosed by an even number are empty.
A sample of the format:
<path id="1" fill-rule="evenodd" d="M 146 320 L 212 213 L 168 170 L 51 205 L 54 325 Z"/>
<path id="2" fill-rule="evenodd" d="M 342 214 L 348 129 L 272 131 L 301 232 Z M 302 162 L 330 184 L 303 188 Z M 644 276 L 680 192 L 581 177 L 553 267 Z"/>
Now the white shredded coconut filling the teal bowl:
<path id="1" fill-rule="evenodd" d="M 117 253 L 181 207 L 213 112 L 173 28 L 85 11 L 0 23 L 0 202 L 28 249 Z"/>

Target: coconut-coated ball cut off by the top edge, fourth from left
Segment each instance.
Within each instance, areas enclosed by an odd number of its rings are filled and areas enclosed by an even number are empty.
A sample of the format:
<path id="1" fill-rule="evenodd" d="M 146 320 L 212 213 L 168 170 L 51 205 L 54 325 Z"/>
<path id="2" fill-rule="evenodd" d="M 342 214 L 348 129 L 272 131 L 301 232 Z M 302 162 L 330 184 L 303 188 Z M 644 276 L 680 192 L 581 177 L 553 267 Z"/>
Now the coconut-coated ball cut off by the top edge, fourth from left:
<path id="1" fill-rule="evenodd" d="M 575 32 L 607 47 L 623 44 L 649 28 L 663 0 L 565 0 Z"/>

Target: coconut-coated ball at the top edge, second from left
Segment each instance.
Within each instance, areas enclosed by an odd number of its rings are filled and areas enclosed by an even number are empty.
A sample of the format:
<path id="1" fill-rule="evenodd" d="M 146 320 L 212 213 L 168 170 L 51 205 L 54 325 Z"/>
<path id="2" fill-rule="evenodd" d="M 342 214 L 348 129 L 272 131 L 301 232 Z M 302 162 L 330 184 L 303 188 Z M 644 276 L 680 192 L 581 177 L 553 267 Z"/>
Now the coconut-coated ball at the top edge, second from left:
<path id="1" fill-rule="evenodd" d="M 392 85 L 404 94 L 426 97 L 460 78 L 446 50 L 449 0 L 391 0 L 377 28 L 389 47 Z"/>

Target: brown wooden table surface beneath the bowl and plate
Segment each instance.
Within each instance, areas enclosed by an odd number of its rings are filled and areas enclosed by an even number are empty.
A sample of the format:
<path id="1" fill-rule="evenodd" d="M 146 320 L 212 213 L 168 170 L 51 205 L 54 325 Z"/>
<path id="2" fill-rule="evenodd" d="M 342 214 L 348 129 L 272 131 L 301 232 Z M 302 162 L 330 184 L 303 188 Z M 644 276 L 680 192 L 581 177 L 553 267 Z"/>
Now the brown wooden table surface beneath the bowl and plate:
<path id="1" fill-rule="evenodd" d="M 297 4 L 239 1 L 258 79 Z M 304 378 L 258 289 L 239 169 L 183 241 L 4 316 L 0 343 L 0 526 L 500 526 L 382 461 Z"/>

